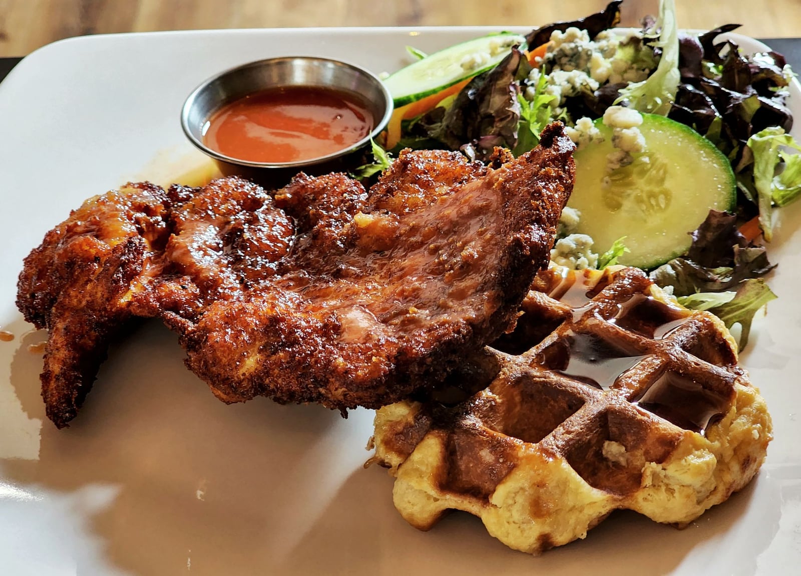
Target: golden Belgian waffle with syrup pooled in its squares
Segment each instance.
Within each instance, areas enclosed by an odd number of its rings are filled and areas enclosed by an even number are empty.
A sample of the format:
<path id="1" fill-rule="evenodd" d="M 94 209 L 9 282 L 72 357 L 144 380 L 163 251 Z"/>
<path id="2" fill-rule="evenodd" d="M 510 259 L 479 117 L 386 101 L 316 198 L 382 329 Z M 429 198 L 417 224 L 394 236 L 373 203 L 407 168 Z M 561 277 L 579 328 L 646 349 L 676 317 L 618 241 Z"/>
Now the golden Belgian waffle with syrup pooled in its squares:
<path id="1" fill-rule="evenodd" d="M 465 510 L 533 554 L 616 509 L 684 526 L 743 488 L 771 441 L 727 328 L 636 268 L 541 272 L 513 332 L 449 384 L 376 413 L 395 506 L 421 530 Z"/>

